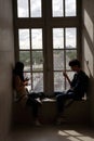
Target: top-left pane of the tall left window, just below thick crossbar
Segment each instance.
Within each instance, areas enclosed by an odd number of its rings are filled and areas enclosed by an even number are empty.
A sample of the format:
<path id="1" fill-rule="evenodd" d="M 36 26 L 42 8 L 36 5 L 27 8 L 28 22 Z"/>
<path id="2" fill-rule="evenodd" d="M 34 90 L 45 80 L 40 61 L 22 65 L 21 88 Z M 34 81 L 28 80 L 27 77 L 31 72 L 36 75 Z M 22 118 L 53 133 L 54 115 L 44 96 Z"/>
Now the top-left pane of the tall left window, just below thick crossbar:
<path id="1" fill-rule="evenodd" d="M 19 49 L 30 49 L 29 29 L 18 29 Z"/>

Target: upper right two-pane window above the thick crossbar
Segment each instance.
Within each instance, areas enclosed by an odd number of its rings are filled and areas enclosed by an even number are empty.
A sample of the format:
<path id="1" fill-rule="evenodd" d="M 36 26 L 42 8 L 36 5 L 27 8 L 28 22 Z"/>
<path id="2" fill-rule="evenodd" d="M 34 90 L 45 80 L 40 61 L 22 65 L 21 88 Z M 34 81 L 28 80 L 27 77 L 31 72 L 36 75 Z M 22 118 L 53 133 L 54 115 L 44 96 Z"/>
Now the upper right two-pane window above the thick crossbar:
<path id="1" fill-rule="evenodd" d="M 52 0 L 53 17 L 77 16 L 77 0 Z"/>

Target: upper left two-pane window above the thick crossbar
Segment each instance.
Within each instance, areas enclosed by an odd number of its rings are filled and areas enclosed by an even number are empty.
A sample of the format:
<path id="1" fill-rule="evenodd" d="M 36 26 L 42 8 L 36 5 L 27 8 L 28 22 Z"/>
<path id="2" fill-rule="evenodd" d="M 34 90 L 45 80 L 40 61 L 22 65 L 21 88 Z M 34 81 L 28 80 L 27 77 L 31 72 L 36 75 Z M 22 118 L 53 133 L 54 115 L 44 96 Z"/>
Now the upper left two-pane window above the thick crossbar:
<path id="1" fill-rule="evenodd" d="M 41 17 L 41 0 L 17 0 L 17 17 Z"/>

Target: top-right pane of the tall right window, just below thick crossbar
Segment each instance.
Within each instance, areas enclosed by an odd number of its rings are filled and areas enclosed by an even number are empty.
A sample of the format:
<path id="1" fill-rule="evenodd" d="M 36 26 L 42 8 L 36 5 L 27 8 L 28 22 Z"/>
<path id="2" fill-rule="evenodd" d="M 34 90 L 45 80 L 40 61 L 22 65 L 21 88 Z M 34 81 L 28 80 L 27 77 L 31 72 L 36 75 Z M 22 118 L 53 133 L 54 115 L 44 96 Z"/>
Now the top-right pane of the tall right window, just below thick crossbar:
<path id="1" fill-rule="evenodd" d="M 66 28 L 66 48 L 77 48 L 76 28 Z"/>

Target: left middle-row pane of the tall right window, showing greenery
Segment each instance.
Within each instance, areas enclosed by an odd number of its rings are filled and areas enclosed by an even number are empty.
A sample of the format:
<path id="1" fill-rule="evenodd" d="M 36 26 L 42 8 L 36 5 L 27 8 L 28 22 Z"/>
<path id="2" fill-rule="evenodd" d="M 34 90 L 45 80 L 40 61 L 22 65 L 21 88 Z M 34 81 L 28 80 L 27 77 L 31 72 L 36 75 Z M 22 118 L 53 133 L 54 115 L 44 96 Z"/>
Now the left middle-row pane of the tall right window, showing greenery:
<path id="1" fill-rule="evenodd" d="M 64 68 L 64 51 L 62 50 L 54 50 L 54 70 L 63 70 Z"/>

